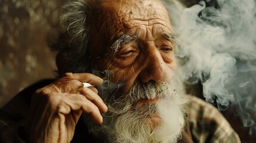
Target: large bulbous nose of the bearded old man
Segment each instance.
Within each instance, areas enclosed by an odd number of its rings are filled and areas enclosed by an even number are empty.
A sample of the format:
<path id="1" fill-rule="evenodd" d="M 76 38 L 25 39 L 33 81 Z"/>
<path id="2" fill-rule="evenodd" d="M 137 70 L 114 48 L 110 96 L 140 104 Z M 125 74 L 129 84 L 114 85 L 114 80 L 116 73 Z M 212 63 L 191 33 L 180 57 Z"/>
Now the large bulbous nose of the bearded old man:
<path id="1" fill-rule="evenodd" d="M 165 63 L 158 49 L 150 51 L 146 58 L 146 67 L 140 71 L 141 82 L 146 83 L 149 80 L 155 82 L 167 81 L 171 75 L 171 67 L 168 67 L 168 64 Z"/>

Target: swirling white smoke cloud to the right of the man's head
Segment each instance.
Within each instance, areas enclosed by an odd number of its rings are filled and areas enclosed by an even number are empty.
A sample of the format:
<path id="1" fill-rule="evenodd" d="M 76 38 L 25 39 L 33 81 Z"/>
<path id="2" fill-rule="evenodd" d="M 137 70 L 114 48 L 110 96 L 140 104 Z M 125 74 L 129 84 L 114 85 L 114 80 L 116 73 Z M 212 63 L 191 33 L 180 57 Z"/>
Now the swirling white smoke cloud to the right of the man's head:
<path id="1" fill-rule="evenodd" d="M 206 101 L 234 108 L 243 125 L 256 130 L 256 1 L 217 2 L 218 10 L 201 1 L 181 15 L 183 77 L 201 82 Z"/>

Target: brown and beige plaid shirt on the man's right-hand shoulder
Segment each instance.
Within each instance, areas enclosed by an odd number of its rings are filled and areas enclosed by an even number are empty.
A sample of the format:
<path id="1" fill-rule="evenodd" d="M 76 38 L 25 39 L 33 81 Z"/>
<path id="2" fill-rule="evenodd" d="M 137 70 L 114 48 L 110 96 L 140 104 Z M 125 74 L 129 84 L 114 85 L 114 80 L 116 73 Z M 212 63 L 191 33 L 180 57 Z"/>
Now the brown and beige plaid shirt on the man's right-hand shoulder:
<path id="1" fill-rule="evenodd" d="M 188 122 L 194 142 L 240 142 L 238 134 L 217 108 L 196 97 L 189 99 Z"/>

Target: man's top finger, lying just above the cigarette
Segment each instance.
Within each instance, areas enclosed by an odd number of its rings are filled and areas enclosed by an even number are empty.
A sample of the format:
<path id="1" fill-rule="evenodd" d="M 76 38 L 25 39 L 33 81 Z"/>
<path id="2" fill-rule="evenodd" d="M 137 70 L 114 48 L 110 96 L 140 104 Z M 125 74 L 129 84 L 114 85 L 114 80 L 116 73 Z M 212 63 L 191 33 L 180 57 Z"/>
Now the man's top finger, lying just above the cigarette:
<path id="1" fill-rule="evenodd" d="M 100 85 L 103 82 L 103 79 L 91 73 L 65 73 L 64 77 L 79 80 L 80 82 L 88 82 L 91 85 Z"/>

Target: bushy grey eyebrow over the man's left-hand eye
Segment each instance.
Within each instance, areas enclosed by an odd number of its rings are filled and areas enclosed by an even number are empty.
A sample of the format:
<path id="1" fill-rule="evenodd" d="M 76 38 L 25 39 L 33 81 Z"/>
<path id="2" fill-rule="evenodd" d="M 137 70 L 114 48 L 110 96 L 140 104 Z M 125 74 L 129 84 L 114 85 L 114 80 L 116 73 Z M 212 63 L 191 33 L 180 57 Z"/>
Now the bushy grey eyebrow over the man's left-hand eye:
<path id="1" fill-rule="evenodd" d="M 138 36 L 135 34 L 122 34 L 116 38 L 115 42 L 113 42 L 112 46 L 110 46 L 115 52 L 124 46 L 125 43 L 129 43 L 132 41 L 136 41 Z"/>

